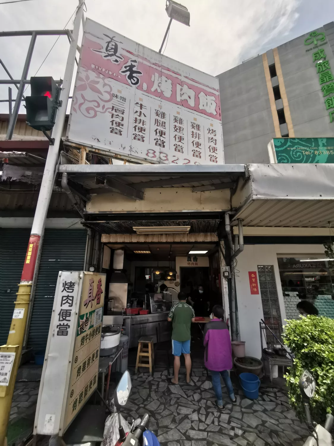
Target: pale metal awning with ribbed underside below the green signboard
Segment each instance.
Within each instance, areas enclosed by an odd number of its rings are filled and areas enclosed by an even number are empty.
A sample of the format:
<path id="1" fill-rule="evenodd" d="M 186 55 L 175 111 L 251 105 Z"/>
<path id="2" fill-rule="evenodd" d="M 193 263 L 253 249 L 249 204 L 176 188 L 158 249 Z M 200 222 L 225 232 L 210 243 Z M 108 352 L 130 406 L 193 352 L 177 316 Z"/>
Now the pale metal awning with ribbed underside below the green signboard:
<path id="1" fill-rule="evenodd" d="M 232 206 L 244 226 L 328 227 L 334 223 L 333 164 L 250 164 Z"/>

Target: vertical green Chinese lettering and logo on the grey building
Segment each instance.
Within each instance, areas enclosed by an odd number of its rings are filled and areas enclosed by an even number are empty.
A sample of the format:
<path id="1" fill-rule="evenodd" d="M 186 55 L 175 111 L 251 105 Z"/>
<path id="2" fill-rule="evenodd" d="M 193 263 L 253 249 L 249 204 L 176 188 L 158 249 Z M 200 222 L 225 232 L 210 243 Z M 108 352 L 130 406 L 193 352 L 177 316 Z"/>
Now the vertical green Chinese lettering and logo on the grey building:
<path id="1" fill-rule="evenodd" d="M 325 45 L 327 42 L 325 33 L 317 33 L 313 31 L 309 34 L 309 37 L 306 37 L 304 40 L 305 45 L 316 45 L 312 49 L 317 48 L 317 50 L 312 54 L 314 66 L 317 70 L 317 74 L 319 77 L 319 84 L 322 86 L 321 90 L 323 93 L 323 97 L 328 96 L 325 100 L 326 110 L 329 110 L 328 114 L 330 117 L 330 122 L 334 120 L 334 110 L 330 110 L 334 108 L 334 96 L 330 96 L 334 93 L 334 76 L 331 71 L 330 62 L 327 59 L 327 55 L 323 48 L 319 48 L 319 46 Z M 325 41 L 325 42 L 324 42 Z M 323 42 L 322 44 L 318 44 L 318 42 Z"/>

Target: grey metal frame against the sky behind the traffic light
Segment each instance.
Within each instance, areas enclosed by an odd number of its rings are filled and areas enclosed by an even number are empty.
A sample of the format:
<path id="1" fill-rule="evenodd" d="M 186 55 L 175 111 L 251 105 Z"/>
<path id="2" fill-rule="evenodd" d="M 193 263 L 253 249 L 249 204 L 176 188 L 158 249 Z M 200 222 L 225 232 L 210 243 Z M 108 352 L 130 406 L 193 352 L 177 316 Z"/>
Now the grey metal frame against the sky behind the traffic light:
<path id="1" fill-rule="evenodd" d="M 0 85 L 14 85 L 17 88 L 16 98 L 12 99 L 12 88 L 8 87 L 8 99 L 1 99 L 0 102 L 8 102 L 9 107 L 9 124 L 6 134 L 6 140 L 11 140 L 14 132 L 14 127 L 17 120 L 17 115 L 20 110 L 21 102 L 25 100 L 24 96 L 24 86 L 30 84 L 30 80 L 27 79 L 29 72 L 29 66 L 31 58 L 33 56 L 33 50 L 36 42 L 37 36 L 67 36 L 69 43 L 73 40 L 72 30 L 70 29 L 46 29 L 46 30 L 33 30 L 33 31 L 3 31 L 0 33 L 0 37 L 22 37 L 31 36 L 29 48 L 24 62 L 24 67 L 20 79 L 13 79 L 9 70 L 5 66 L 4 62 L 0 59 L 0 65 L 3 67 L 7 73 L 9 79 L 0 79 Z M 55 81 L 58 85 L 62 84 L 62 80 Z M 12 109 L 12 103 L 14 103 L 14 108 Z"/>

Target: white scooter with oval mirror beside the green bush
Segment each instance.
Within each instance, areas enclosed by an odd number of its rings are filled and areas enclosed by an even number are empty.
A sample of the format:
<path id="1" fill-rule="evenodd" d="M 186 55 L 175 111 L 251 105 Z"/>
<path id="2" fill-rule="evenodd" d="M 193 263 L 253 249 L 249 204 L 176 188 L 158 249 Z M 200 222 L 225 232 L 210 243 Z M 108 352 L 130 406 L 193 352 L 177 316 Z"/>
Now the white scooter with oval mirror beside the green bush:
<path id="1" fill-rule="evenodd" d="M 310 413 L 310 399 L 314 396 L 316 381 L 314 376 L 309 370 L 305 370 L 301 375 L 299 380 L 299 388 L 301 391 L 301 396 L 303 398 L 303 404 L 306 415 L 306 426 L 310 432 L 310 437 L 308 437 L 304 443 L 304 446 L 332 446 L 333 438 L 330 434 L 334 417 L 330 413 L 327 413 L 325 427 L 322 425 L 312 422 Z"/>

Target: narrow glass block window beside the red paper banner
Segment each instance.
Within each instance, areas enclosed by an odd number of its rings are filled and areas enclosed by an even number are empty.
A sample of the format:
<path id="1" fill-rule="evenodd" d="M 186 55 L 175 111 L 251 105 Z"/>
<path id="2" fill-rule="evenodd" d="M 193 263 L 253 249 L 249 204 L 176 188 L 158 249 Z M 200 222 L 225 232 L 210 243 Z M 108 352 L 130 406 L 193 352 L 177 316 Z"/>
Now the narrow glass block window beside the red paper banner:
<path id="1" fill-rule="evenodd" d="M 257 265 L 264 321 L 267 325 L 281 325 L 281 311 L 273 265 Z"/>

